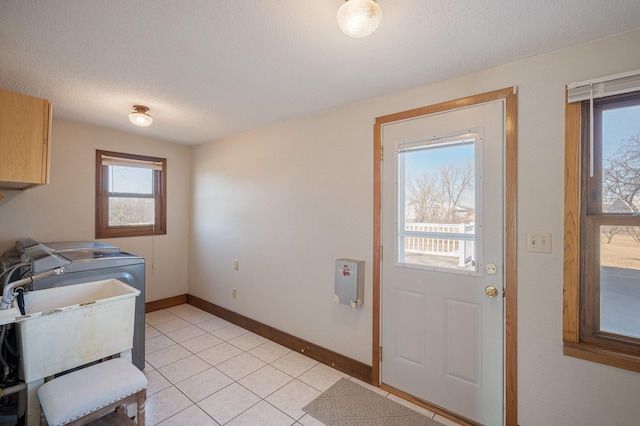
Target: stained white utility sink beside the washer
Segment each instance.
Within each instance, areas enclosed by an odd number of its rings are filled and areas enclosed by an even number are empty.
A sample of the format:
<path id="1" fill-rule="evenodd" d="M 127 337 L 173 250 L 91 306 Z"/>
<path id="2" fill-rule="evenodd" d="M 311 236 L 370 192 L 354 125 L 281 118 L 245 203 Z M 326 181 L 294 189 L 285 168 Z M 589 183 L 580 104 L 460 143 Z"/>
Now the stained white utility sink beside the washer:
<path id="1" fill-rule="evenodd" d="M 24 381 L 130 350 L 139 294 L 116 279 L 26 292 L 14 319 Z"/>

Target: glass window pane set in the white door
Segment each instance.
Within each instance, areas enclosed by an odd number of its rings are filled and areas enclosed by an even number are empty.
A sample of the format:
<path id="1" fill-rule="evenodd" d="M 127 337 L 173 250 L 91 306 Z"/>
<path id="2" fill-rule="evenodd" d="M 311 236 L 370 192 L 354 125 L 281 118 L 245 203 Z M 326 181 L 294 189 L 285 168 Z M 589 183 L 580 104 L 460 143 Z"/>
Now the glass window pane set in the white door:
<path id="1" fill-rule="evenodd" d="M 476 270 L 476 135 L 398 147 L 400 264 Z"/>

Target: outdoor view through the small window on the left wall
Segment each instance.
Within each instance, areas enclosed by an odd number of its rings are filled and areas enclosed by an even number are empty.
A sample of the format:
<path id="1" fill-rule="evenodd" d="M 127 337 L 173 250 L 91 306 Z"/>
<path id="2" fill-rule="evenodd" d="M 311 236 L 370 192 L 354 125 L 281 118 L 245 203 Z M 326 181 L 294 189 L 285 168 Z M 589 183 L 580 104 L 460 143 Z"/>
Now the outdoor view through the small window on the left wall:
<path id="1" fill-rule="evenodd" d="M 109 166 L 109 226 L 152 225 L 155 218 L 153 170 Z"/>

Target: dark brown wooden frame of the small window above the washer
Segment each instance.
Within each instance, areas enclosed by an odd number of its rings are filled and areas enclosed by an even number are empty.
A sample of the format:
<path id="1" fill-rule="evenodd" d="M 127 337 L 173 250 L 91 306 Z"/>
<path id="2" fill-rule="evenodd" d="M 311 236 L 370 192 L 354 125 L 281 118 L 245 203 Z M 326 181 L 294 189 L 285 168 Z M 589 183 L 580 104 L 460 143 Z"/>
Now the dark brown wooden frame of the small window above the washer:
<path id="1" fill-rule="evenodd" d="M 141 226 L 109 226 L 108 166 L 102 164 L 103 156 L 162 164 L 162 170 L 154 170 L 155 223 Z M 122 152 L 96 150 L 96 239 L 116 237 L 140 237 L 167 233 L 167 160 Z"/>

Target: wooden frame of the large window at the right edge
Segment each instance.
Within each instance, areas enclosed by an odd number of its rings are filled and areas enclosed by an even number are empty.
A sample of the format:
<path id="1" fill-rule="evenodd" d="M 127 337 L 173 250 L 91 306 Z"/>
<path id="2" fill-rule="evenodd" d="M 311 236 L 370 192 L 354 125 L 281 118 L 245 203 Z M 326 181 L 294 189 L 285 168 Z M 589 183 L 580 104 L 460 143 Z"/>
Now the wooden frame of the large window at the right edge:
<path id="1" fill-rule="evenodd" d="M 588 173 L 588 165 L 584 161 L 582 139 L 589 133 L 589 120 L 584 109 L 582 102 L 565 104 L 563 352 L 567 356 L 640 372 L 640 345 L 633 343 L 636 339 L 620 339 L 594 328 L 593 315 L 599 315 L 599 310 L 593 293 L 599 290 L 599 285 L 594 287 L 593 280 L 586 279 L 593 271 L 584 265 L 589 264 L 585 259 L 593 259 L 598 254 L 598 248 L 594 248 L 594 241 L 583 241 L 583 227 L 606 224 L 607 217 L 585 214 L 587 191 L 583 176 Z M 635 222 L 637 218 L 618 220 Z M 589 253 L 588 247 L 593 252 Z"/>

